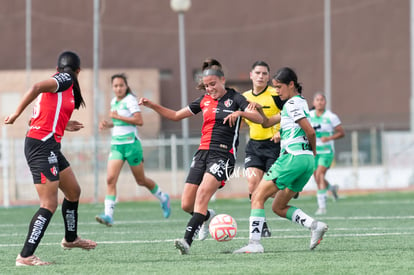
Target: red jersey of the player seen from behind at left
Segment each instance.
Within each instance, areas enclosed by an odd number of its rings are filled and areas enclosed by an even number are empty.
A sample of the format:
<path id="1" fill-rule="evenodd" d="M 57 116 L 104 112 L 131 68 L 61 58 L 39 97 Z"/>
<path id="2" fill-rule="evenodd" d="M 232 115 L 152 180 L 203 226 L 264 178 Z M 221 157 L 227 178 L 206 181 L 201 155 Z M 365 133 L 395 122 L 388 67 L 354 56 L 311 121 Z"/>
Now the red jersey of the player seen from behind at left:
<path id="1" fill-rule="evenodd" d="M 75 98 L 72 77 L 68 73 L 56 73 L 53 79 L 57 89 L 37 97 L 27 136 L 43 141 L 54 136 L 60 142 L 75 109 Z"/>

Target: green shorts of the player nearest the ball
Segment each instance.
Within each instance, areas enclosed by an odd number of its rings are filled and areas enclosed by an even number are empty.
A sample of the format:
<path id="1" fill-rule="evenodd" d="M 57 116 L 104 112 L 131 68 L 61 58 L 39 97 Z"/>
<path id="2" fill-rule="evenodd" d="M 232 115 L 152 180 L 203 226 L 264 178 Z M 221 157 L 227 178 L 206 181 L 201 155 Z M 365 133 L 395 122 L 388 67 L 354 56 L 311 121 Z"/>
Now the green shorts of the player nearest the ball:
<path id="1" fill-rule="evenodd" d="M 282 154 L 263 179 L 273 181 L 279 190 L 301 192 L 313 174 L 313 166 L 313 155 Z"/>

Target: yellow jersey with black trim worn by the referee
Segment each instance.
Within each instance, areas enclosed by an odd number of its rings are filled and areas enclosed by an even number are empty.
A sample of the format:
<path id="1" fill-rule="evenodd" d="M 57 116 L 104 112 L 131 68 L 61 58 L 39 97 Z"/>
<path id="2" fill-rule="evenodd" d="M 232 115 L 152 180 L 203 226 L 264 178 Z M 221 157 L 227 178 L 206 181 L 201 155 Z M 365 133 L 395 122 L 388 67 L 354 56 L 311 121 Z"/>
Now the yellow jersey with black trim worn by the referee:
<path id="1" fill-rule="evenodd" d="M 263 112 L 267 117 L 271 117 L 273 115 L 280 113 L 280 110 L 283 106 L 283 102 L 279 98 L 276 89 L 272 86 L 267 86 L 258 95 L 253 94 L 253 90 L 249 90 L 244 92 L 243 96 L 247 98 L 248 101 L 257 102 L 260 105 L 262 105 Z M 244 121 L 249 125 L 250 138 L 254 140 L 270 139 L 280 129 L 279 123 L 269 128 L 263 128 L 261 124 L 251 122 L 248 119 L 244 119 Z"/>

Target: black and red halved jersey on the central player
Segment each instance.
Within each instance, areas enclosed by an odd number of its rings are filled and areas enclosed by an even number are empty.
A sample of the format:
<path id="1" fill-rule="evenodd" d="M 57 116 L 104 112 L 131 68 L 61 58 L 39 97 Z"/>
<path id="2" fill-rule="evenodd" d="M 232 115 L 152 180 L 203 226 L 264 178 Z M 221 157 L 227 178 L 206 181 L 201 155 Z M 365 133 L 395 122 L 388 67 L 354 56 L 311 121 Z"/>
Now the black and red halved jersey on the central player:
<path id="1" fill-rule="evenodd" d="M 236 155 L 241 118 L 238 118 L 233 127 L 228 123 L 223 124 L 223 120 L 235 111 L 244 111 L 249 102 L 235 90 L 231 88 L 226 90 L 227 93 L 219 100 L 204 94 L 188 105 L 193 114 L 203 112 L 199 150 L 225 151 Z"/>

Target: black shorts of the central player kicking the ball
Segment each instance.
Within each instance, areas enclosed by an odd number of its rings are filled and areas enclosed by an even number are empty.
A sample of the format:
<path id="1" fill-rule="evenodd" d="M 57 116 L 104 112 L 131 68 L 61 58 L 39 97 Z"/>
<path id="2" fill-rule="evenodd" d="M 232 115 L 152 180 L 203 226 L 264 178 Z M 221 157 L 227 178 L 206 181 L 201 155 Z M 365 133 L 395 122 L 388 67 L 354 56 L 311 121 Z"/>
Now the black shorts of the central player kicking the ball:
<path id="1" fill-rule="evenodd" d="M 224 182 L 234 171 L 234 163 L 234 155 L 229 152 L 198 150 L 185 182 L 200 185 L 204 174 L 209 173 L 224 186 Z"/>

